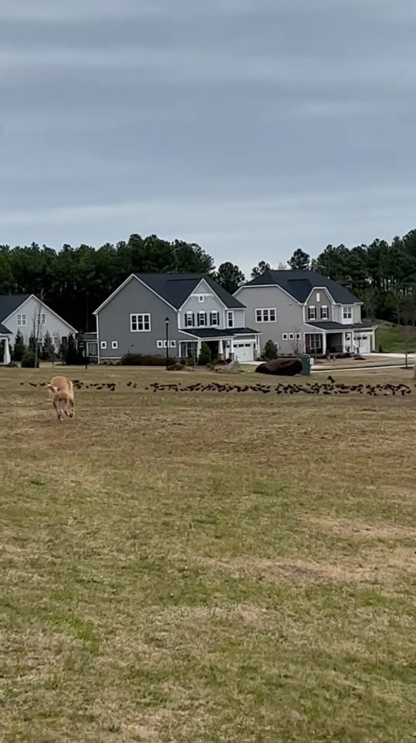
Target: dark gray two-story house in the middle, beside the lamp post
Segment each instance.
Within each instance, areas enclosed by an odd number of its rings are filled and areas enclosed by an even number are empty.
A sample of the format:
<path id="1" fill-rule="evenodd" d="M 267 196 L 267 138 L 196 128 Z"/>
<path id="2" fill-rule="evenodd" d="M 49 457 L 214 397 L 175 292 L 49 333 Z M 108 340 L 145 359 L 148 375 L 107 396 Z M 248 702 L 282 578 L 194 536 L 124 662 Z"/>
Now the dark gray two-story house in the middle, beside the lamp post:
<path id="1" fill-rule="evenodd" d="M 94 312 L 97 332 L 85 334 L 91 361 L 127 353 L 198 357 L 203 342 L 213 356 L 253 360 L 260 331 L 247 328 L 246 308 L 210 276 L 132 273 Z"/>

